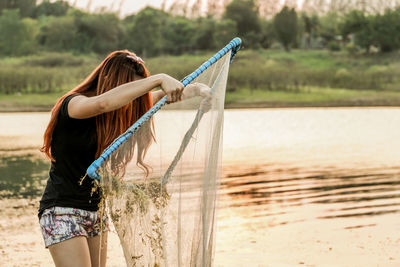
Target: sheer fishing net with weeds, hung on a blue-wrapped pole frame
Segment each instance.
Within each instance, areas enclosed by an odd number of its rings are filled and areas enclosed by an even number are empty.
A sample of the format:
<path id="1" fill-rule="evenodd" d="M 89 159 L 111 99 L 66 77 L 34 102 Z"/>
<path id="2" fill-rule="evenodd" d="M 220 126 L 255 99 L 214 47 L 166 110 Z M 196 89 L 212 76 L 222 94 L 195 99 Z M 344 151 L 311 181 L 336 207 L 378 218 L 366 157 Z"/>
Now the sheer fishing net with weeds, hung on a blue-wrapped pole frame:
<path id="1" fill-rule="evenodd" d="M 88 170 L 99 179 L 100 209 L 112 220 L 127 266 L 212 265 L 231 52 L 189 77 L 208 85 L 211 97 L 150 111 L 106 149 L 95 172 Z"/>

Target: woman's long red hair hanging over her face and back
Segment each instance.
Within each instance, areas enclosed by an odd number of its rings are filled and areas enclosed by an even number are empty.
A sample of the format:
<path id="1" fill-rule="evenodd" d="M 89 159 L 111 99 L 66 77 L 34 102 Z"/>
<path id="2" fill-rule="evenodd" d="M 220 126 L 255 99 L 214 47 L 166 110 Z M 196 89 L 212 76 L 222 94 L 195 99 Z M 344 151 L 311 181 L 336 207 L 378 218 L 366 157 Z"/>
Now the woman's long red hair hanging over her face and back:
<path id="1" fill-rule="evenodd" d="M 55 161 L 51 153 L 51 141 L 57 124 L 58 114 L 64 99 L 72 94 L 85 96 L 101 95 L 119 85 L 132 82 L 135 79 L 146 78 L 150 75 L 143 61 L 135 60 L 136 55 L 128 50 L 115 51 L 109 54 L 103 62 L 77 87 L 58 99 L 51 111 L 50 122 L 44 133 L 44 143 L 41 151 Z M 125 132 L 129 126 L 137 121 L 153 105 L 151 93 L 136 98 L 124 107 L 96 116 L 97 151 L 96 158 L 112 141 Z M 148 127 L 149 136 L 153 137 L 151 127 Z M 150 145 L 148 139 L 144 145 L 144 152 Z M 144 155 L 141 155 L 142 157 Z M 140 163 L 142 160 L 138 158 Z"/>

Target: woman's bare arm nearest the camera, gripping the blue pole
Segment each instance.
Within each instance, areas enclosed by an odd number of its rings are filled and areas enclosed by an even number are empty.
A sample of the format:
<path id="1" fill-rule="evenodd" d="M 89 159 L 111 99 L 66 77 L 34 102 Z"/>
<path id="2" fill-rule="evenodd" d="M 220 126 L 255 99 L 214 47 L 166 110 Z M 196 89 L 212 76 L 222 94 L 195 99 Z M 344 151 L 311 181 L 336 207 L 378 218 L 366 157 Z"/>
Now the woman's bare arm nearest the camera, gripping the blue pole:
<path id="1" fill-rule="evenodd" d="M 120 85 L 98 96 L 76 96 L 68 104 L 68 114 L 75 119 L 94 117 L 101 113 L 119 109 L 159 86 L 164 95 L 168 95 L 169 102 L 176 102 L 181 99 L 183 84 L 166 74 L 156 74 Z"/>

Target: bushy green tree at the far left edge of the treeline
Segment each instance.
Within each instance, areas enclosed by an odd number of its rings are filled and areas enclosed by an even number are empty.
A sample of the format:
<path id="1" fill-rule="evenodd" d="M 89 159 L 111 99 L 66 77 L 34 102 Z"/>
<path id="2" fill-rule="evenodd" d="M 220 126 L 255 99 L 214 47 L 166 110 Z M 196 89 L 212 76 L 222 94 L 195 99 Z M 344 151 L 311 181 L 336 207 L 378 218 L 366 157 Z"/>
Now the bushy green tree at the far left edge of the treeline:
<path id="1" fill-rule="evenodd" d="M 34 52 L 37 34 L 35 20 L 21 20 L 18 9 L 4 9 L 0 16 L 0 54 L 17 56 Z"/>

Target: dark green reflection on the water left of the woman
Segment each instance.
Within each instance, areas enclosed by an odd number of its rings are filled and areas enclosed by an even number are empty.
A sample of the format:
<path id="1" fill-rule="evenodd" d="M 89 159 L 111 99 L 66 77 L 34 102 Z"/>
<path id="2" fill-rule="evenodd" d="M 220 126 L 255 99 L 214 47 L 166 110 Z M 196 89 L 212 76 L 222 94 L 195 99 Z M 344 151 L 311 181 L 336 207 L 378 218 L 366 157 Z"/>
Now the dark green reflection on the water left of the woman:
<path id="1" fill-rule="evenodd" d="M 0 156 L 0 198 L 42 194 L 49 164 L 34 154 Z"/>

